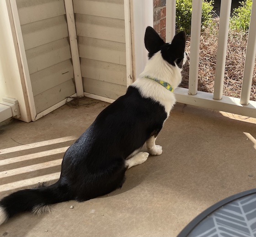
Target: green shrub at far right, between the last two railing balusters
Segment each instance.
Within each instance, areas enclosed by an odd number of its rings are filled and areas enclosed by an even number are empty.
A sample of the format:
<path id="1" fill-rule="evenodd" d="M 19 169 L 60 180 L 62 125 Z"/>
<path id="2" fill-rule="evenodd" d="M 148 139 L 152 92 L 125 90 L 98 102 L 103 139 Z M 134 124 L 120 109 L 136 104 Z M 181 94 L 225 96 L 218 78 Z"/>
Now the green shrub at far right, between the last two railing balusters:
<path id="1" fill-rule="evenodd" d="M 239 2 L 241 5 L 234 9 L 230 19 L 230 29 L 236 31 L 248 31 L 251 17 L 252 0 Z"/>

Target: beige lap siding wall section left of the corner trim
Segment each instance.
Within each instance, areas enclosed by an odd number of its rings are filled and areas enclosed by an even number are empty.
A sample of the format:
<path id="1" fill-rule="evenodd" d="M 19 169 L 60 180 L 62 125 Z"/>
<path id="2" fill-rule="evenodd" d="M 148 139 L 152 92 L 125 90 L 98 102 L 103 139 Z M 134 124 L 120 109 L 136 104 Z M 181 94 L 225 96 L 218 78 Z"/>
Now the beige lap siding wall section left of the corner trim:
<path id="1" fill-rule="evenodd" d="M 36 112 L 75 93 L 64 0 L 16 0 Z"/>

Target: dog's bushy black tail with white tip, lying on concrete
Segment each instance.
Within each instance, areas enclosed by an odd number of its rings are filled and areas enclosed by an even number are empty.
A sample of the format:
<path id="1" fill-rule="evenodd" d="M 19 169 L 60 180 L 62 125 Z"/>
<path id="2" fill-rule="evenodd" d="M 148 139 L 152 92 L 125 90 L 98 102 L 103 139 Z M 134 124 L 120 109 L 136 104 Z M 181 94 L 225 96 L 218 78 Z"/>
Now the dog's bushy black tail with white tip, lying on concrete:
<path id="1" fill-rule="evenodd" d="M 31 211 L 40 215 L 50 211 L 47 205 L 72 199 L 68 186 L 59 181 L 48 187 L 14 192 L 0 201 L 0 225 L 20 212 Z"/>

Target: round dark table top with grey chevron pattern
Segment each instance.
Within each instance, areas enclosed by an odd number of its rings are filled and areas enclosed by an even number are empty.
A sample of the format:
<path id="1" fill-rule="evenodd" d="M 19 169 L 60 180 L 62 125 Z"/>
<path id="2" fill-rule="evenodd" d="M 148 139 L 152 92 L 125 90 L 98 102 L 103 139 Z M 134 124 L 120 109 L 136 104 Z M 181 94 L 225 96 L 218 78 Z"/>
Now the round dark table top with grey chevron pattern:
<path id="1" fill-rule="evenodd" d="M 177 237 L 256 237 L 256 189 L 209 207 Z"/>

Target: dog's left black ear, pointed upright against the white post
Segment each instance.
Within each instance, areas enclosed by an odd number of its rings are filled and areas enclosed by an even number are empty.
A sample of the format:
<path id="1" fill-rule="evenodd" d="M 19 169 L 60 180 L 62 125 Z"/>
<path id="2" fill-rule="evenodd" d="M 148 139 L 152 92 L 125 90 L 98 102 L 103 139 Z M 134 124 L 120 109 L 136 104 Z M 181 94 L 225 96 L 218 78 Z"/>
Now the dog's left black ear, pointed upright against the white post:
<path id="1" fill-rule="evenodd" d="M 149 57 L 152 57 L 156 52 L 160 50 L 160 46 L 165 44 L 165 42 L 160 38 L 157 32 L 148 26 L 145 32 L 145 47 L 149 52 Z"/>

